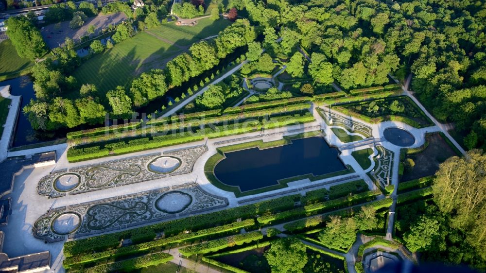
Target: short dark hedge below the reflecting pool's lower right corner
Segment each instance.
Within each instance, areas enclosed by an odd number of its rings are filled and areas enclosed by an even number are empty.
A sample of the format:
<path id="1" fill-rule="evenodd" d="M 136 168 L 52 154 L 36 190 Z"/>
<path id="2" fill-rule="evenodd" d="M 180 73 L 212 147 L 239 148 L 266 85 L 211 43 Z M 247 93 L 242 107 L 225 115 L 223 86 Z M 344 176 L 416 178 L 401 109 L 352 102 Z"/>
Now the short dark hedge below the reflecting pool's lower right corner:
<path id="1" fill-rule="evenodd" d="M 302 202 L 302 204 L 308 205 L 316 201 L 322 202 L 328 199 L 335 199 L 346 196 L 350 193 L 360 193 L 366 190 L 368 190 L 368 185 L 366 184 L 366 182 L 364 182 L 363 179 L 360 179 L 344 184 L 331 186 L 329 190 L 327 190 L 326 188 L 321 188 L 308 191 L 306 192 L 305 197 L 302 197 L 300 199 L 300 202 Z"/>

